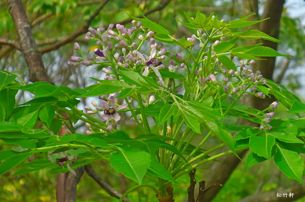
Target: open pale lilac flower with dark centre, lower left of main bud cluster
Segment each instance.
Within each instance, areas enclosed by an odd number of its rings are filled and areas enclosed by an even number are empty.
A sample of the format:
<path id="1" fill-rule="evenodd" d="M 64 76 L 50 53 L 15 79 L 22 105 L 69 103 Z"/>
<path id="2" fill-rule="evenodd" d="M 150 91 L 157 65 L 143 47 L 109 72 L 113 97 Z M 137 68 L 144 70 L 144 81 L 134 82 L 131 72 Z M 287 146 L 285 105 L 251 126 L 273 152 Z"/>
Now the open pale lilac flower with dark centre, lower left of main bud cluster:
<path id="1" fill-rule="evenodd" d="M 114 99 L 110 99 L 111 107 L 109 107 L 107 102 L 102 102 L 102 108 L 104 109 L 104 114 L 101 115 L 101 119 L 107 121 L 110 118 L 113 118 L 114 121 L 120 121 L 121 117 L 120 115 L 116 112 L 121 109 L 124 109 L 127 107 L 127 103 L 122 104 L 121 106 L 116 106 Z"/>

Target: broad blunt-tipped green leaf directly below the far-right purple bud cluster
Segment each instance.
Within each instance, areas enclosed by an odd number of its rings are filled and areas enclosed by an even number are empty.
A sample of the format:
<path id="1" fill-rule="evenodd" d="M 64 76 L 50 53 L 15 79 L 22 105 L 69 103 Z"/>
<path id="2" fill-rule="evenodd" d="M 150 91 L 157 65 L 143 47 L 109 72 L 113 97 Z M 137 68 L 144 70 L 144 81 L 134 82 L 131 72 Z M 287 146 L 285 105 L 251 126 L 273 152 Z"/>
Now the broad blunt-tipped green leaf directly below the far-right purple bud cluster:
<path id="1" fill-rule="evenodd" d="M 266 159 L 271 158 L 272 146 L 275 143 L 274 137 L 268 137 L 267 135 L 262 136 L 251 136 L 250 137 L 250 150 L 256 153 L 260 157 Z"/>

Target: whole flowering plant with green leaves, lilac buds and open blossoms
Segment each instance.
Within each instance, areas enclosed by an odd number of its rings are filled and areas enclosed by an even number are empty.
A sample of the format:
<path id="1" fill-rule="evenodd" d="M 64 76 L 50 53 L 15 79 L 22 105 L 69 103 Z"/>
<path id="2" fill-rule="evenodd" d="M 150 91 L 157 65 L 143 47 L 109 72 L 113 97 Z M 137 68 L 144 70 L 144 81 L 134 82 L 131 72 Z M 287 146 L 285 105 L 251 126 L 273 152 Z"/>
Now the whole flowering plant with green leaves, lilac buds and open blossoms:
<path id="1" fill-rule="evenodd" d="M 116 29 L 110 24 L 107 30 L 102 25 L 96 30 L 89 27 L 85 39 L 99 46 L 95 56 L 88 56 L 75 43 L 76 55 L 68 64 L 95 65 L 105 78 L 92 78 L 97 84 L 84 89 L 46 82 L 26 84 L 19 76 L 22 72 L 1 71 L 0 94 L 4 99 L 0 100 L 0 138 L 2 144 L 24 150 L 1 151 L 0 174 L 18 166 L 14 175 L 48 168 L 50 174 L 70 172 L 68 177 L 73 178 L 82 175 L 79 168 L 84 166 L 90 172 L 88 164 L 106 159 L 114 170 L 138 183 L 123 195 L 113 194 L 119 201 L 128 201 L 127 194 L 142 186 L 151 188 L 159 201 L 174 201 L 176 179 L 188 173 L 188 198 L 195 201 L 198 166 L 230 153 L 238 157 L 238 151 L 250 149 L 245 170 L 274 156 L 285 175 L 304 184 L 304 164 L 298 154 L 305 153 L 304 119 L 273 120 L 276 101 L 263 111 L 238 103 L 245 94 L 261 99 L 273 95 L 288 113 L 300 117 L 298 113 L 305 111 L 300 99 L 284 86 L 247 67 L 259 60 L 257 56 L 288 55 L 261 44 L 236 45 L 240 38 L 281 41 L 251 29 L 239 32 L 238 28 L 263 21 L 247 21 L 249 16 L 228 23 L 213 13 L 207 17 L 199 9 L 194 18 L 185 16 L 188 23 L 183 24 L 197 31 L 187 39 L 173 38 L 157 23 L 132 16 L 132 28 L 120 24 Z M 163 43 L 185 51 L 167 50 Z M 196 48 L 200 51 L 195 54 Z M 236 65 L 236 57 L 244 60 Z M 18 90 L 28 91 L 35 98 L 15 106 Z M 103 100 L 101 105 L 92 100 L 92 106 L 85 106 L 85 110 L 77 106 L 79 98 L 94 96 Z M 124 131 L 121 113 L 137 123 L 138 134 Z M 38 118 L 43 122 L 41 128 L 35 128 Z M 230 124 L 234 118 L 247 119 L 257 127 Z M 85 134 L 75 131 L 80 121 L 88 128 Z M 66 130 L 60 132 L 60 128 Z M 205 134 L 204 139 L 192 145 L 198 134 Z M 232 134 L 236 134 L 234 138 Z M 223 143 L 203 150 L 212 135 Z M 222 147 L 228 151 L 214 154 Z M 30 162 L 23 163 L 25 160 Z M 144 177 L 151 183 L 143 184 Z M 209 188 L 205 189 L 204 181 L 199 187 L 197 201 L 202 201 Z"/>

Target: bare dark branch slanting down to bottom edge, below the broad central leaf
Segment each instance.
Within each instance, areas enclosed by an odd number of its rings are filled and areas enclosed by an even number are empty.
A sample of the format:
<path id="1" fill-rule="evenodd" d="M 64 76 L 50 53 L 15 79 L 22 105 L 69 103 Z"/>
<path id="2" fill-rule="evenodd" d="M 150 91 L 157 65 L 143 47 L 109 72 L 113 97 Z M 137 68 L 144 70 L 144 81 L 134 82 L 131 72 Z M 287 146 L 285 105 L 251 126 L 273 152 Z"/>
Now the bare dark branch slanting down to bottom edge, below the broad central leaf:
<path id="1" fill-rule="evenodd" d="M 99 186 L 102 187 L 102 189 L 104 189 L 110 196 L 115 197 L 117 199 L 120 199 L 122 197 L 122 194 L 114 189 L 112 186 L 110 186 L 107 182 L 105 182 L 104 180 L 102 180 L 102 178 L 93 170 L 93 168 L 91 167 L 90 164 L 85 165 L 85 171 L 87 172 L 87 174 L 94 179 L 94 181 L 96 183 L 99 184 Z M 132 202 L 131 200 L 124 198 L 123 200 L 124 202 Z"/>

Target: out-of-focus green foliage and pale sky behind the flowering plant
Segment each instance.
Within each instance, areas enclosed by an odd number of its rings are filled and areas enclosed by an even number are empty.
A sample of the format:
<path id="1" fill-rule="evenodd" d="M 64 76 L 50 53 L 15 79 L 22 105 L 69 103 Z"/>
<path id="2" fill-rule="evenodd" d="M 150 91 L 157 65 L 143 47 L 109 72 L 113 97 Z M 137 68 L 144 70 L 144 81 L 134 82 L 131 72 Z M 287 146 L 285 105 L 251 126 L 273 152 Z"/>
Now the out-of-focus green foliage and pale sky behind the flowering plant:
<path id="1" fill-rule="evenodd" d="M 90 19 L 90 16 L 95 12 L 105 0 L 24 0 L 24 7 L 27 11 L 27 16 L 32 25 L 34 37 L 40 50 L 45 49 L 59 41 L 71 36 L 75 31 L 80 29 L 84 23 Z M 161 0 L 162 2 L 162 0 Z M 262 0 L 259 3 L 259 12 L 263 12 L 264 3 Z M 290 2 L 290 3 L 289 3 Z M 305 36 L 304 36 L 304 19 L 300 17 L 290 16 L 291 10 L 298 5 L 305 8 L 305 3 L 302 0 L 296 1 L 297 4 L 292 4 L 287 1 L 284 5 L 284 10 L 281 19 L 281 28 L 279 39 L 283 41 L 279 45 L 278 52 L 283 54 L 293 55 L 294 58 L 277 59 L 274 71 L 274 80 L 277 80 L 278 75 L 284 72 L 280 82 L 286 85 L 292 92 L 300 96 L 304 100 L 305 93 L 305 72 L 304 72 L 304 53 L 305 53 Z M 141 15 L 141 12 L 156 8 L 160 5 L 160 1 L 156 0 L 112 0 L 107 2 L 104 8 L 90 23 L 91 27 L 98 27 L 103 24 L 106 28 L 109 23 L 119 23 L 129 19 L 128 14 L 133 16 Z M 196 34 L 193 30 L 184 27 L 179 21 L 185 22 L 184 12 L 189 16 L 195 16 L 198 7 L 201 6 L 201 13 L 210 15 L 215 12 L 218 19 L 235 20 L 244 16 L 243 5 L 241 0 L 172 0 L 165 9 L 154 12 L 147 17 L 160 23 L 166 27 L 172 36 L 176 38 L 190 37 Z M 300 16 L 302 13 L 300 13 Z M 10 39 L 17 40 L 15 27 L 4 0 L 0 1 L 0 40 Z M 131 23 L 125 24 L 125 27 L 131 27 Z M 93 84 L 89 77 L 102 78 L 100 71 L 94 70 L 92 67 L 78 66 L 71 67 L 66 64 L 73 55 L 73 43 L 77 41 L 82 50 L 89 52 L 96 45 L 92 41 L 84 40 L 84 34 L 77 37 L 73 42 L 61 46 L 60 48 L 45 52 L 43 60 L 48 74 L 56 85 L 67 85 L 71 88 L 85 88 Z M 239 41 L 246 44 L 245 41 Z M 175 47 L 170 47 L 172 50 Z M 168 48 L 169 49 L 169 48 Z M 175 51 L 179 52 L 179 49 Z M 148 51 L 147 51 L 148 53 Z M 284 66 L 289 60 L 288 65 Z M 0 68 L 7 71 L 20 71 L 26 68 L 22 53 L 11 46 L 0 44 Z M 286 68 L 283 70 L 283 68 Z M 24 81 L 29 82 L 28 72 L 21 75 Z M 17 94 L 17 102 L 23 103 L 30 99 L 30 94 L 19 92 Z M 0 98 L 1 99 L 1 98 Z M 82 106 L 88 105 L 91 100 L 83 99 Z M 285 107 L 279 107 L 277 115 L 281 117 L 280 111 L 285 111 Z M 122 117 L 128 121 L 128 117 Z M 124 130 L 129 130 L 129 134 L 133 134 L 137 128 L 130 121 L 130 124 L 125 124 Z M 126 122 L 127 123 L 127 122 Z M 83 131 L 83 125 L 80 124 L 79 131 Z M 199 141 L 204 135 L 198 135 L 193 141 Z M 218 140 L 209 142 L 210 147 L 218 144 Z M 6 146 L 8 147 L 8 146 Z M 13 146 L 12 146 L 13 147 Z M 0 143 L 0 150 L 20 148 L 4 148 Z M 212 164 L 213 162 L 211 162 Z M 211 164 L 205 164 L 204 167 L 198 169 L 196 173 L 197 182 L 204 179 L 205 175 L 209 175 L 206 171 Z M 135 182 L 124 178 L 122 175 L 113 171 L 106 161 L 95 162 L 93 168 L 99 175 L 115 189 L 121 192 L 126 191 Z M 228 182 L 224 185 L 213 201 L 238 201 L 248 195 L 277 189 L 279 186 L 289 187 L 289 183 L 293 180 L 288 179 L 275 166 L 273 161 L 267 161 L 251 167 L 246 172 L 243 171 L 244 163 L 239 164 L 235 169 Z M 269 172 L 273 170 L 273 172 Z M 16 170 L 0 176 L 0 201 L 14 202 L 36 202 L 36 201 L 56 201 L 55 187 L 56 175 L 48 175 L 46 170 L 34 171 L 24 175 L 17 175 L 6 178 L 13 174 Z M 148 181 L 147 181 L 148 182 Z M 181 186 L 175 186 L 174 198 L 176 201 L 185 201 L 187 197 L 187 187 L 189 186 L 189 177 L 184 175 L 177 180 Z M 144 182 L 145 179 L 144 179 Z M 198 185 L 197 185 L 198 186 Z M 156 201 L 153 192 L 146 188 L 140 188 L 128 195 L 132 201 Z M 77 186 L 77 201 L 79 202 L 95 202 L 95 201 L 117 201 L 110 197 L 103 189 L 99 187 L 88 175 L 84 174 Z M 298 201 L 304 201 L 299 199 Z"/>

